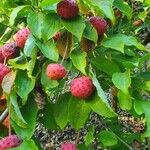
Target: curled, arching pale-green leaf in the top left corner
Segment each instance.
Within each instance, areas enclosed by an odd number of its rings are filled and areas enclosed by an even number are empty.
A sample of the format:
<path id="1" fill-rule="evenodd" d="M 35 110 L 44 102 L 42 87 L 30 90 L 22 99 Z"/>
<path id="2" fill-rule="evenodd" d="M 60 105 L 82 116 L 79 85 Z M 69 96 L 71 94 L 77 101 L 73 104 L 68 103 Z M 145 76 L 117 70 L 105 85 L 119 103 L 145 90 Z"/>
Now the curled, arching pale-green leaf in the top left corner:
<path id="1" fill-rule="evenodd" d="M 19 16 L 19 14 L 25 11 L 27 12 L 29 10 L 31 10 L 31 7 L 29 5 L 23 5 L 14 8 L 9 17 L 9 24 L 13 26 L 15 23 L 15 19 Z"/>

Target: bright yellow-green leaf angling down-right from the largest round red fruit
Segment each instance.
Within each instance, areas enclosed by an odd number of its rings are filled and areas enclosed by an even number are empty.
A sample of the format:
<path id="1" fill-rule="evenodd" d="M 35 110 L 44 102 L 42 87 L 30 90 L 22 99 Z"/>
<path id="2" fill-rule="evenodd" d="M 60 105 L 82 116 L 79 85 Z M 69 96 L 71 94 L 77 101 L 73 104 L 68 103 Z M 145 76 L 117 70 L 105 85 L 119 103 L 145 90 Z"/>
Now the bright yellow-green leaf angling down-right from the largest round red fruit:
<path id="1" fill-rule="evenodd" d="M 89 98 L 89 100 L 86 102 L 97 114 L 108 118 L 116 117 L 116 114 L 113 112 L 112 108 L 103 102 L 97 93 Z"/>

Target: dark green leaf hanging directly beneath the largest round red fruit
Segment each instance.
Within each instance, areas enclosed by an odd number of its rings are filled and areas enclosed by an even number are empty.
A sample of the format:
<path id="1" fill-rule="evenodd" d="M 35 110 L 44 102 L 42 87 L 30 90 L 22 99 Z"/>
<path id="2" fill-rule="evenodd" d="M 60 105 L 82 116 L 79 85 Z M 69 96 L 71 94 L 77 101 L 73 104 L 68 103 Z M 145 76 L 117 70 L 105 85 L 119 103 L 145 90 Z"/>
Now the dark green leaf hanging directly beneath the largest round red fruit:
<path id="1" fill-rule="evenodd" d="M 75 129 L 84 127 L 89 117 L 91 108 L 86 104 L 85 100 L 72 97 L 69 104 L 69 121 Z"/>

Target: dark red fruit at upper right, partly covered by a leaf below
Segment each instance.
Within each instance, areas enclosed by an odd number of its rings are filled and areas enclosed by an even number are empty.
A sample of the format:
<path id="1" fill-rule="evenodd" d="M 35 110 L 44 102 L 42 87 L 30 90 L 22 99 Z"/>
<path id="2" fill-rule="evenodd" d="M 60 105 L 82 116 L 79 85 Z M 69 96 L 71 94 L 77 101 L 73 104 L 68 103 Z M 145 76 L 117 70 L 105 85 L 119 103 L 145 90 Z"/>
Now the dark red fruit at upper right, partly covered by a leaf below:
<path id="1" fill-rule="evenodd" d="M 93 27 L 97 30 L 98 35 L 103 36 L 107 30 L 106 20 L 98 16 L 93 16 L 89 18 L 89 21 L 93 25 Z"/>

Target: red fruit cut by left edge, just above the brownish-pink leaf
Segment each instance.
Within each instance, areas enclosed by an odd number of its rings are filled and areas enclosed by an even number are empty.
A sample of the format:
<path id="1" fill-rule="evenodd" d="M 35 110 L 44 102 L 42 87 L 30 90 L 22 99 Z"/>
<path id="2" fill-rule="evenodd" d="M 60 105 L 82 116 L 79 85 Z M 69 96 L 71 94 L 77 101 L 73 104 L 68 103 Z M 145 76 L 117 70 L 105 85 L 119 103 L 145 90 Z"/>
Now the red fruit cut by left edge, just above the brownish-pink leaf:
<path id="1" fill-rule="evenodd" d="M 11 70 L 4 64 L 0 63 L 0 84 L 2 83 L 3 78 L 6 74 L 8 74 Z"/>

